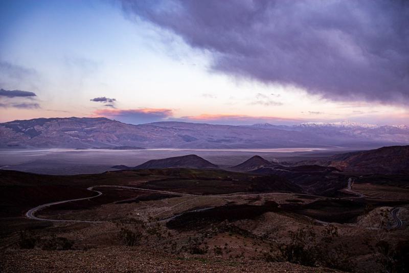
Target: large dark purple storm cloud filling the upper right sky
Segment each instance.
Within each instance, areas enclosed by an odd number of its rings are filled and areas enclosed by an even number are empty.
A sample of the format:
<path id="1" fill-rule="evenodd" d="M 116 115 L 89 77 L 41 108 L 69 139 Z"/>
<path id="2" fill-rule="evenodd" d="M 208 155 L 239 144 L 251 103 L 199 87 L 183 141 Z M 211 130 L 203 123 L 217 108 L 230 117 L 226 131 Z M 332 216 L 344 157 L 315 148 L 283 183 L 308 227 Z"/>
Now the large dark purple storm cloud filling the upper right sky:
<path id="1" fill-rule="evenodd" d="M 212 53 L 213 70 L 331 100 L 409 102 L 409 1 L 132 1 L 128 15 Z"/>

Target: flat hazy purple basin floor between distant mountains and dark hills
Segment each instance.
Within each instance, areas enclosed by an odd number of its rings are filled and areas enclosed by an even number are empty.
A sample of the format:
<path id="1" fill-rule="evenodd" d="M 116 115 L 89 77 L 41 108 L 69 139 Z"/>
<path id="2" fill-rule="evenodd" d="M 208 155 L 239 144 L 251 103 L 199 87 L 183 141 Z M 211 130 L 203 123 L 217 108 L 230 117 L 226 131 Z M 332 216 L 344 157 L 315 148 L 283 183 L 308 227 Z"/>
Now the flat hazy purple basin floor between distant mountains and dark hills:
<path id="1" fill-rule="evenodd" d="M 81 174 L 112 171 L 112 166 L 137 166 L 149 160 L 196 154 L 220 167 L 235 166 L 253 155 L 270 161 L 303 160 L 310 153 L 332 153 L 324 148 L 241 149 L 0 149 L 0 169 L 43 174 Z"/>

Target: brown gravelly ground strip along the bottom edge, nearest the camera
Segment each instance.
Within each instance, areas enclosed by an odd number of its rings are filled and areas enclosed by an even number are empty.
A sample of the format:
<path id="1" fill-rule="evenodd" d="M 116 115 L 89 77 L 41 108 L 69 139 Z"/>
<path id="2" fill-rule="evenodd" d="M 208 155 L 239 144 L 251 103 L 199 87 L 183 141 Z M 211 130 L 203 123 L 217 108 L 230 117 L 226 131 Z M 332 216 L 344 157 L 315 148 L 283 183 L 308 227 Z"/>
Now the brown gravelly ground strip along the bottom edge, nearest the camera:
<path id="1" fill-rule="evenodd" d="M 144 247 L 9 249 L 0 255 L 0 272 L 338 272 L 291 263 L 176 256 Z"/>

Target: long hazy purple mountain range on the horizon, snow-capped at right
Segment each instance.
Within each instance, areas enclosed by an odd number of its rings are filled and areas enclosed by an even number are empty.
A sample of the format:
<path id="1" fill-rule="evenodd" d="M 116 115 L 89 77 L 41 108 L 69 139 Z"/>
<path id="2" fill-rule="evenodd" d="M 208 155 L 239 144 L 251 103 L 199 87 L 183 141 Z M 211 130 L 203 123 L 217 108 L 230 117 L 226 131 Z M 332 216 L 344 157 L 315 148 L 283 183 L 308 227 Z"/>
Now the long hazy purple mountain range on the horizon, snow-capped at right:
<path id="1" fill-rule="evenodd" d="M 133 125 L 107 118 L 76 117 L 0 123 L 0 148 L 357 148 L 408 143 L 406 126 L 354 123 L 232 126 L 155 122 Z"/>

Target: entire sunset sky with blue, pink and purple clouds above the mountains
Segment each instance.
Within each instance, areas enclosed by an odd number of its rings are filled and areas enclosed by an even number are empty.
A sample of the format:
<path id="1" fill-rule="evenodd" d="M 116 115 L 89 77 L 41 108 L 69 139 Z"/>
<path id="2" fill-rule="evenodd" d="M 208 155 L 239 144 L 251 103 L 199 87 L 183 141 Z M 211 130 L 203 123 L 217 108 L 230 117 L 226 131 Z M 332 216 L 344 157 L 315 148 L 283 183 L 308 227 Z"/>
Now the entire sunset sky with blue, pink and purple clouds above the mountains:
<path id="1" fill-rule="evenodd" d="M 409 125 L 409 2 L 0 0 L 0 122 Z"/>

